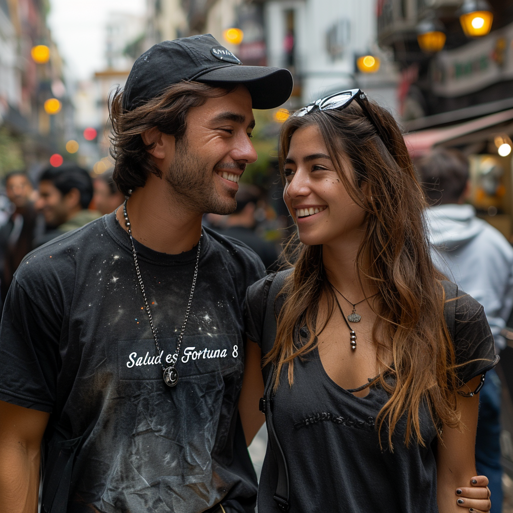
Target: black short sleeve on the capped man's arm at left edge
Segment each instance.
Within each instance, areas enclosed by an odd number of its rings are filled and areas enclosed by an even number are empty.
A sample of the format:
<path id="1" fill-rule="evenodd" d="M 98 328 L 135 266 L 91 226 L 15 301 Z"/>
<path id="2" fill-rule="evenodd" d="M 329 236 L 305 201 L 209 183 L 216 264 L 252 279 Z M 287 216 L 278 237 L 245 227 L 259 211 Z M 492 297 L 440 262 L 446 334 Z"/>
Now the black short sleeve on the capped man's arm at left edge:
<path id="1" fill-rule="evenodd" d="M 51 412 L 60 362 L 55 309 L 38 306 L 14 279 L 0 326 L 0 399 Z"/>

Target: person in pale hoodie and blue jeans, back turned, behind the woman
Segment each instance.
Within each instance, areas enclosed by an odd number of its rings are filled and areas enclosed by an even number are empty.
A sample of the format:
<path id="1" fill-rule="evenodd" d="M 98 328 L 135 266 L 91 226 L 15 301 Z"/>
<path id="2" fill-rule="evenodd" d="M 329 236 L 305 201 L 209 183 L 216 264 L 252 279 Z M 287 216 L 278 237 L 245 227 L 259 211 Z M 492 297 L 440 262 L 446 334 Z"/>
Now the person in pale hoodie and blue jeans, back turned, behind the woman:
<path id="1" fill-rule="evenodd" d="M 501 330 L 513 307 L 513 248 L 494 227 L 466 204 L 469 166 L 453 149 L 437 149 L 417 162 L 430 208 L 426 211 L 435 265 L 479 301 L 494 335 L 496 352 L 506 345 Z M 476 467 L 489 479 L 491 513 L 502 510 L 500 464 L 500 380 L 488 372 L 480 393 Z"/>

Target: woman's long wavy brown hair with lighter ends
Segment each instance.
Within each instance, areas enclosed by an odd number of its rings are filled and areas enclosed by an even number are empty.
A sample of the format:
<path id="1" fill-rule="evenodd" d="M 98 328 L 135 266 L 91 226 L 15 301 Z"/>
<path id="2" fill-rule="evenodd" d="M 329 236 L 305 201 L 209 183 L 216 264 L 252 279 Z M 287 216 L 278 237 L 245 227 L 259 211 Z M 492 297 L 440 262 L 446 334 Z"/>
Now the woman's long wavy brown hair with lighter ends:
<path id="1" fill-rule="evenodd" d="M 443 277 L 431 262 L 424 195 L 397 123 L 377 104 L 369 102 L 368 108 L 388 135 L 390 150 L 353 102 L 341 111 L 289 117 L 280 134 L 280 169 L 283 176 L 292 134 L 299 128 L 315 126 L 351 198 L 367 212 L 356 271 L 360 283 L 362 277 L 370 280 L 382 298 L 372 337 L 377 348 L 377 381 L 390 397 L 377 425 L 380 440 L 385 427 L 392 450 L 392 433 L 404 415 L 405 444 L 415 440 L 424 445 L 421 406 L 429 409 L 433 423 L 459 427 L 456 389 L 462 383 L 456 374 L 455 352 L 443 316 Z M 347 161 L 354 170 L 352 177 L 342 171 Z M 369 268 L 361 264 L 363 254 L 370 257 Z M 293 384 L 294 359 L 317 346 L 316 334 L 333 312 L 333 292 L 323 270 L 322 246 L 301 244 L 296 234 L 287 244 L 285 255 L 294 268 L 282 290 L 286 298 L 278 318 L 276 343 L 264 360 L 264 364 L 272 361 L 276 366 L 275 387 L 286 364 L 289 384 Z M 327 299 L 328 316 L 323 326 L 315 326 L 321 298 Z M 298 322 L 306 324 L 310 332 L 304 345 L 294 342 Z"/>

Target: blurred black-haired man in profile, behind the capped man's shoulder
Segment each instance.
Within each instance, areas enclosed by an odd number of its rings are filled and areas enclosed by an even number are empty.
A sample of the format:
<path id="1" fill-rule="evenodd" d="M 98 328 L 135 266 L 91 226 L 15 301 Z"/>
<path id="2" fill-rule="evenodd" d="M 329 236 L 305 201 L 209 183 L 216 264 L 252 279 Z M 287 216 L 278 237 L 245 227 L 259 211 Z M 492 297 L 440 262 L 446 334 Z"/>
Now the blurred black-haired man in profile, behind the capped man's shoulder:
<path id="1" fill-rule="evenodd" d="M 36 239 L 35 246 L 96 219 L 98 213 L 88 210 L 92 196 L 93 183 L 85 169 L 76 164 L 44 169 L 39 178 L 36 208 L 43 212 L 47 229 Z"/>

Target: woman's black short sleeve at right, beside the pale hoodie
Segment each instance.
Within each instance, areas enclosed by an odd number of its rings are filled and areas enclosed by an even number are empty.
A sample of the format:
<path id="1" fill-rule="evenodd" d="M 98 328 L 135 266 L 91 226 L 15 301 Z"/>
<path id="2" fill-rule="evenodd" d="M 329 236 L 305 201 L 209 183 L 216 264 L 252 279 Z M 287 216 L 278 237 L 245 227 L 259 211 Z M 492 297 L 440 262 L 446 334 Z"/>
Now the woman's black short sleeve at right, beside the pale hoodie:
<path id="1" fill-rule="evenodd" d="M 494 337 L 483 307 L 459 291 L 455 318 L 455 353 L 458 377 L 467 383 L 497 365 Z M 463 294 L 463 295 L 462 295 Z"/>

